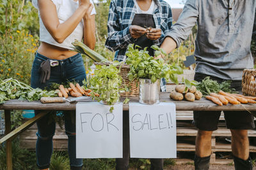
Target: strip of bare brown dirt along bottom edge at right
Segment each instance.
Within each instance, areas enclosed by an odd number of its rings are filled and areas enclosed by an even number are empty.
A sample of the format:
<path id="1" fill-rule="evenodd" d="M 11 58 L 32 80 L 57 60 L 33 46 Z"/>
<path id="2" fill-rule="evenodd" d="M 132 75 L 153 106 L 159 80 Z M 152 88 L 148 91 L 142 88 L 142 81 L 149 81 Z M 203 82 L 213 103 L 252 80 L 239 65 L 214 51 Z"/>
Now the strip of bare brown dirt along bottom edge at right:
<path id="1" fill-rule="evenodd" d="M 178 164 L 175 166 L 165 168 L 164 170 L 194 170 L 195 167 L 193 165 L 188 164 Z M 211 164 L 209 170 L 235 170 L 234 165 L 220 165 L 220 164 Z M 256 170 L 256 167 L 253 167 L 253 170 Z"/>

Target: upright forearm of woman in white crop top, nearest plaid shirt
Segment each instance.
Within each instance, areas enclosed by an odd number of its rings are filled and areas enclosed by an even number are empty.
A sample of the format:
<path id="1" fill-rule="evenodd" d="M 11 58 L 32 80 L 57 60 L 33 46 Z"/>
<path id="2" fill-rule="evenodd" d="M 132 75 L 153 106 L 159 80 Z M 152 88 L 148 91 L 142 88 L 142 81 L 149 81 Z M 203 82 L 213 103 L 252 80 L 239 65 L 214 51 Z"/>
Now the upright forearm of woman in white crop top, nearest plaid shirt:
<path id="1" fill-rule="evenodd" d="M 91 49 L 94 49 L 96 43 L 94 16 L 84 17 L 84 44 Z"/>

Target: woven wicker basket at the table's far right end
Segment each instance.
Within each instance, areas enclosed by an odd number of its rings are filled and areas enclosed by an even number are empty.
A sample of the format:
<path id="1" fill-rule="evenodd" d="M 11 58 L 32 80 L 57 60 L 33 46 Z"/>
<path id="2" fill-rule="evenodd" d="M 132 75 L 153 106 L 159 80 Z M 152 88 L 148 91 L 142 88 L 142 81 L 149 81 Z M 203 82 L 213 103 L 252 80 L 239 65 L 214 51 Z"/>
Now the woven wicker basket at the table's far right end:
<path id="1" fill-rule="evenodd" d="M 246 96 L 256 96 L 256 69 L 244 69 L 242 91 Z"/>

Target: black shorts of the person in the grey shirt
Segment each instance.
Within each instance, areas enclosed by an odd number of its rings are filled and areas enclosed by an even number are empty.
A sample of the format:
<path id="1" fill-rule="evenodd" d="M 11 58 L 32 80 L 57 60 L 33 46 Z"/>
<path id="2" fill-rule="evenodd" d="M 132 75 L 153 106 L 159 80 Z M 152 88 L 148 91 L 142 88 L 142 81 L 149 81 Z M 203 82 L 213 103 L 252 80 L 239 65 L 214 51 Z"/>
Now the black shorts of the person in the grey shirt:
<path id="1" fill-rule="evenodd" d="M 195 74 L 196 81 L 202 81 L 207 74 Z M 211 80 L 216 80 L 218 83 L 225 81 L 221 78 L 210 76 Z M 236 91 L 241 91 L 242 81 L 232 81 L 231 88 Z M 254 117 L 248 111 L 223 111 L 225 122 L 228 129 L 254 129 Z M 215 131 L 218 129 L 218 122 L 221 111 L 194 111 L 195 126 L 202 131 Z"/>

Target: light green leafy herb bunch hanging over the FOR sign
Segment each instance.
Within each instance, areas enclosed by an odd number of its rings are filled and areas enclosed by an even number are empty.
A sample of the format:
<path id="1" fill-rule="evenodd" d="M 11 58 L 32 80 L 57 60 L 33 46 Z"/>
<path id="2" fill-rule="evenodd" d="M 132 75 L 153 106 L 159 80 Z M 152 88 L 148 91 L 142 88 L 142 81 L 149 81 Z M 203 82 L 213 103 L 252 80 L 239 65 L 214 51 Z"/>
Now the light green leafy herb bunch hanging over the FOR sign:
<path id="1" fill-rule="evenodd" d="M 118 61 L 114 61 L 109 66 L 97 65 L 93 76 L 89 76 L 87 81 L 83 83 L 86 87 L 92 89 L 92 99 L 96 99 L 98 102 L 103 101 L 108 105 L 112 105 L 110 111 L 113 111 L 113 104 L 119 101 L 120 92 L 124 92 L 124 89 L 120 89 L 122 84 L 122 77 L 120 76 L 120 69 L 116 66 L 120 64 Z M 99 94 L 99 96 L 95 95 Z"/>

